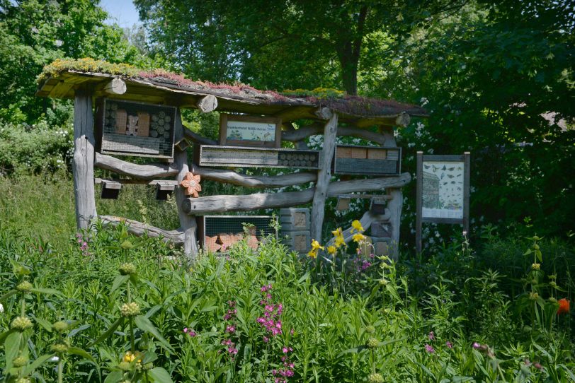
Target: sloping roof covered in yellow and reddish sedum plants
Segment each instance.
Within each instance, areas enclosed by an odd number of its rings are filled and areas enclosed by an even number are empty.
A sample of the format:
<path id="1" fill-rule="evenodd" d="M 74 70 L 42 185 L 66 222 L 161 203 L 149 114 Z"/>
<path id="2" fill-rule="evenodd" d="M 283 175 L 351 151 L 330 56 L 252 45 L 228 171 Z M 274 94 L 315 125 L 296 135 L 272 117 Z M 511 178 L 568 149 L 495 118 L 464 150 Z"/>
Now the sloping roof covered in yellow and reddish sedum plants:
<path id="1" fill-rule="evenodd" d="M 144 71 L 128 64 L 113 64 L 95 59 L 58 59 L 44 67 L 38 77 L 38 95 L 73 98 L 74 89 L 83 83 L 98 88 L 110 78 L 123 78 L 127 93 L 122 98 L 156 103 L 172 103 L 181 107 L 195 105 L 203 95 L 215 95 L 218 110 L 229 112 L 279 114 L 284 120 L 314 118 L 317 107 L 330 107 L 346 119 L 377 119 L 409 114 L 426 117 L 423 108 L 393 100 L 346 95 L 334 89 L 258 90 L 243 83 L 211 83 L 192 81 L 181 74 L 164 69 Z M 178 95 L 179 99 L 178 100 Z"/>

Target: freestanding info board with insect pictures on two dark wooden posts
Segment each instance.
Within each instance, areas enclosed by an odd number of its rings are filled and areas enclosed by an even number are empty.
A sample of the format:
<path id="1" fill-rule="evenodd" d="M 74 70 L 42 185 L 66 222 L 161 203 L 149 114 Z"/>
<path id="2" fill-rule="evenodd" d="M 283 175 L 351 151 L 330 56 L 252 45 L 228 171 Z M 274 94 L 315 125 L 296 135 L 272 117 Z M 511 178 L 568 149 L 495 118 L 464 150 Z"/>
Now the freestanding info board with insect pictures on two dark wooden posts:
<path id="1" fill-rule="evenodd" d="M 416 249 L 421 252 L 423 222 L 462 224 L 469 231 L 471 153 L 423 155 L 417 152 Z"/>

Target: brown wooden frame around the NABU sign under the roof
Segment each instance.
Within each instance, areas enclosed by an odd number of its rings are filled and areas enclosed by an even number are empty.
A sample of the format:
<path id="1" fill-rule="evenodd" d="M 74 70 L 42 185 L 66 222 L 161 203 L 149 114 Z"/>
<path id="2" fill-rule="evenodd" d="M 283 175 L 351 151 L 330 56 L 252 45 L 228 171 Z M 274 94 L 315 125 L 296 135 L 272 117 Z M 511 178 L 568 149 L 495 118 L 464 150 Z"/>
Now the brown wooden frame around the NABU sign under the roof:
<path id="1" fill-rule="evenodd" d="M 253 122 L 256 124 L 275 124 L 274 136 L 271 140 L 242 140 L 228 138 L 229 122 Z M 258 117 L 236 114 L 220 114 L 220 145 L 228 146 L 255 146 L 261 148 L 280 148 L 282 141 L 282 120 L 278 117 Z"/>

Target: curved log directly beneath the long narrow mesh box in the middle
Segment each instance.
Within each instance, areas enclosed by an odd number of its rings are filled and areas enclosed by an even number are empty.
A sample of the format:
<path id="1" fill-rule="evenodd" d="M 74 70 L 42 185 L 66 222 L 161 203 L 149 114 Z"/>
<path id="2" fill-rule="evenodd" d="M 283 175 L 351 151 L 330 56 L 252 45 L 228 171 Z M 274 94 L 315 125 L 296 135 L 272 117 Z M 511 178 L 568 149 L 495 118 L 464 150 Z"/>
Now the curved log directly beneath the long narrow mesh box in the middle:
<path id="1" fill-rule="evenodd" d="M 243 187 L 287 187 L 305 184 L 306 182 L 315 182 L 317 179 L 317 174 L 309 172 L 297 172 L 276 176 L 256 176 L 244 175 L 234 172 L 233 170 L 212 169 L 210 167 L 202 167 L 195 164 L 190 166 L 192 167 L 191 172 L 195 175 L 202 176 L 202 179 L 210 179 L 210 181 L 223 182 Z"/>

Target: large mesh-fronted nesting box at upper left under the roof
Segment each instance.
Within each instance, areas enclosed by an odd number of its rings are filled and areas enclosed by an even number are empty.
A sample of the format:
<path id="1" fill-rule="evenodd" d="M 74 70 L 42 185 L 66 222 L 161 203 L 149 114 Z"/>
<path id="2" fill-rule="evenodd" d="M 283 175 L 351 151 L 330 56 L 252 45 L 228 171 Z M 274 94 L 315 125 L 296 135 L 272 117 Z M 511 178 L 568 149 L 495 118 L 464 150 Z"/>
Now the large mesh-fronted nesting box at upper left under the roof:
<path id="1" fill-rule="evenodd" d="M 101 153 L 173 158 L 176 108 L 103 100 L 98 110 Z"/>

